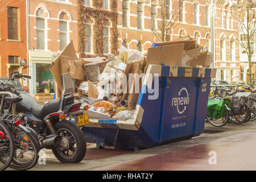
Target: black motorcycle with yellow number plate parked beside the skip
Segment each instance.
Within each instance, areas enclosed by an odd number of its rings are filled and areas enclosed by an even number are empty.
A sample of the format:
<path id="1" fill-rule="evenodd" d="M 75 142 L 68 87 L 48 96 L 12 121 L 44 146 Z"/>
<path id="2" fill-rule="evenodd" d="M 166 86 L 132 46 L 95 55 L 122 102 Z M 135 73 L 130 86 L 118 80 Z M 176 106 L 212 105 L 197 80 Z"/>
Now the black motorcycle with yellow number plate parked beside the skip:
<path id="1" fill-rule="evenodd" d="M 27 64 L 20 61 L 20 67 Z M 8 82 L 15 79 L 31 78 L 19 72 L 13 72 Z M 32 96 L 26 92 L 14 94 L 22 97 L 16 103 L 16 113 L 21 115 L 22 123 L 36 131 L 40 141 L 40 148 L 52 149 L 53 154 L 62 163 L 79 163 L 86 153 L 86 140 L 81 129 L 75 122 L 68 121 L 67 117 L 83 117 L 80 110 L 81 103 L 75 103 L 73 97 L 70 74 L 62 75 L 63 93 L 60 99 L 49 101 L 46 105 L 39 105 Z"/>

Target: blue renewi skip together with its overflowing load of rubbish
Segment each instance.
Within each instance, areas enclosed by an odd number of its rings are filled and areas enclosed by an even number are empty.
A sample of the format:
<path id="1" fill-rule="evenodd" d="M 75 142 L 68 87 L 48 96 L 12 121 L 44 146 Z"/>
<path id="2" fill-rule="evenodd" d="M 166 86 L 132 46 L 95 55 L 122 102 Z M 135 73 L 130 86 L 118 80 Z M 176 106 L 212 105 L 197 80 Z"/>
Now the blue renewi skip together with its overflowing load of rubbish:
<path id="1" fill-rule="evenodd" d="M 78 59 L 72 42 L 60 53 L 52 75 L 59 88 L 60 73 L 70 72 L 76 81 L 75 97 L 87 114 L 79 120 L 89 118 L 79 125 L 87 142 L 137 150 L 204 131 L 216 69 L 208 68 L 208 52 L 186 39 L 155 43 L 147 55 L 121 47 L 119 55 L 109 54 L 108 59 Z"/>

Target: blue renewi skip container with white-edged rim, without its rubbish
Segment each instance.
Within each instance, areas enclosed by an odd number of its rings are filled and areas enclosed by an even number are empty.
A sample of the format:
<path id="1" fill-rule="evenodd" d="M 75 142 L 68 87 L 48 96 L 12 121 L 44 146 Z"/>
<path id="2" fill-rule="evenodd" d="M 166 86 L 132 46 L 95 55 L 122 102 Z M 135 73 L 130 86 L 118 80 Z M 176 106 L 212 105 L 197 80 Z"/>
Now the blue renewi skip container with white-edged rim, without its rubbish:
<path id="1" fill-rule="evenodd" d="M 138 150 L 200 135 L 215 76 L 213 68 L 149 65 L 133 118 L 89 119 L 82 128 L 87 142 Z"/>

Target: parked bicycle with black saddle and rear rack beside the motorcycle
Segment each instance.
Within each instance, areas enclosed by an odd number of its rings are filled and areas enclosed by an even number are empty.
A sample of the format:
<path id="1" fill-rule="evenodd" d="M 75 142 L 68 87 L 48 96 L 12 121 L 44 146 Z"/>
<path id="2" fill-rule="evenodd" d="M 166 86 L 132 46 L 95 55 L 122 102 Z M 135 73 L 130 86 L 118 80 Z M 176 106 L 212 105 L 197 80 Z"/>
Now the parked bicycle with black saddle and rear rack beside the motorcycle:
<path id="1" fill-rule="evenodd" d="M 39 140 L 34 134 L 35 131 L 28 127 L 20 125 L 20 115 L 15 115 L 15 104 L 22 100 L 21 97 L 15 97 L 16 92 L 13 86 L 10 86 L 3 80 L 0 81 L 1 114 L 0 120 L 10 130 L 11 137 L 14 140 L 14 155 L 9 167 L 26 170 L 34 167 L 39 158 Z M 8 92 L 9 91 L 9 92 Z M 7 97 L 6 97 L 7 96 Z M 5 109 L 4 106 L 8 106 Z"/>

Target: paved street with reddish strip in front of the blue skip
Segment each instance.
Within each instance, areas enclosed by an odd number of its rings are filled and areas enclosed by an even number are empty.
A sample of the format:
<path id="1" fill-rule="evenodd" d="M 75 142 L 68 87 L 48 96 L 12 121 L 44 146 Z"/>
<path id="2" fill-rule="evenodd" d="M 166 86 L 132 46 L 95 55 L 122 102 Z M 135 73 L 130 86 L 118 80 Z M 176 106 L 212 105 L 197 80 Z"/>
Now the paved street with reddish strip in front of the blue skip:
<path id="1" fill-rule="evenodd" d="M 206 123 L 199 137 L 145 150 L 97 149 L 88 143 L 85 158 L 78 164 L 60 163 L 51 150 L 44 150 L 46 163 L 30 170 L 255 170 L 255 138 L 256 121 L 221 128 Z"/>

